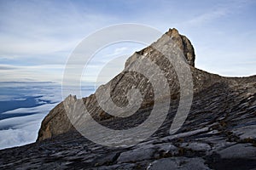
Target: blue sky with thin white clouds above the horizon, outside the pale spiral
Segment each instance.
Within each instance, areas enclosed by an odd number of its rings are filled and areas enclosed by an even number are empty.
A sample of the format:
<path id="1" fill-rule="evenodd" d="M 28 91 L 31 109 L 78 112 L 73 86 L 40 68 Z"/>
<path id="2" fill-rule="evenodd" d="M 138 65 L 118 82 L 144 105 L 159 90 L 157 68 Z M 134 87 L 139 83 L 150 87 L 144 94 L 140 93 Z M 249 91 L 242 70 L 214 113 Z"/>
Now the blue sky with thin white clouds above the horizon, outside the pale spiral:
<path id="1" fill-rule="evenodd" d="M 68 56 L 84 37 L 122 23 L 163 33 L 176 27 L 193 43 L 197 68 L 230 77 L 254 75 L 255 8 L 255 1 L 247 0 L 0 0 L 0 81 L 61 82 Z M 141 48 L 121 43 L 101 55 L 132 54 Z M 117 67 L 119 72 L 124 64 Z"/>

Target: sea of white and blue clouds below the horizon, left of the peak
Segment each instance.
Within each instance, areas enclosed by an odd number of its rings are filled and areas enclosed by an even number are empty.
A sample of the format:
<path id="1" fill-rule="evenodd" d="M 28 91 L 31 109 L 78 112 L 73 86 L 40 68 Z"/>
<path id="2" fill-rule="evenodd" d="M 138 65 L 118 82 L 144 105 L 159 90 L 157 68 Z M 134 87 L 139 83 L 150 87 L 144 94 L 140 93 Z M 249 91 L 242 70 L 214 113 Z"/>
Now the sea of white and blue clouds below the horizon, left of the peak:
<path id="1" fill-rule="evenodd" d="M 9 91 L 15 89 L 15 93 L 1 93 L 0 101 L 23 100 L 27 96 L 40 96 L 39 100 L 36 99 L 37 104 L 40 105 L 0 113 L 15 115 L 15 117 L 0 120 L 0 150 L 35 142 L 44 116 L 62 100 L 61 86 L 52 83 L 2 83 L 0 88 Z M 85 89 L 85 94 L 91 94 L 94 91 L 94 88 Z"/>

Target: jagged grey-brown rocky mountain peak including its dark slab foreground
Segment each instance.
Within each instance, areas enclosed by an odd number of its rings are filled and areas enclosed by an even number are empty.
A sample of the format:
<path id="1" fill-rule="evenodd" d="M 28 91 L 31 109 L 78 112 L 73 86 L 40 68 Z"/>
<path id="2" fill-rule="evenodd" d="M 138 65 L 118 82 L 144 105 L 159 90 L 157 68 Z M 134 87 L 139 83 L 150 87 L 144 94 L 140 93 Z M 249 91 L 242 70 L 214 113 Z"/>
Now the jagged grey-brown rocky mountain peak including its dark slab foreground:
<path id="1" fill-rule="evenodd" d="M 182 60 L 172 60 L 180 54 Z M 147 67 L 143 59 L 157 65 L 160 71 Z M 183 70 L 178 72 L 178 68 Z M 159 72 L 166 83 L 158 80 L 152 83 L 161 77 Z M 182 79 L 187 80 L 183 77 L 191 78 L 192 93 L 180 83 Z M 155 86 L 167 93 L 161 93 Z M 139 101 L 132 101 L 132 95 L 137 94 L 132 94 L 135 88 L 140 92 L 141 98 L 136 97 L 141 99 Z M 102 108 L 102 101 L 109 102 L 109 99 L 99 100 L 108 92 L 117 108 L 134 109 L 132 106 L 139 103 L 137 110 L 134 113 L 128 110 L 126 116 L 108 113 L 112 107 Z M 177 117 L 182 126 L 170 133 L 179 109 L 189 105 L 180 100 L 187 101 L 191 94 L 188 115 Z M 142 131 L 134 131 L 136 138 L 125 138 L 125 133 L 108 135 L 98 131 L 96 125 L 84 127 L 84 123 L 91 124 L 90 118 L 83 117 L 84 109 L 79 103 L 83 103 L 94 121 L 116 132 L 129 133 L 129 129 L 150 121 Z M 155 109 L 154 120 L 151 114 Z M 68 111 L 79 111 L 79 115 L 72 121 Z M 158 125 L 157 119 L 161 118 Z M 157 129 L 143 139 L 143 134 L 151 127 Z M 83 132 L 97 136 L 105 145 L 84 138 Z M 112 140 L 118 141 L 119 147 L 108 146 L 106 141 L 110 145 Z M 137 144 L 130 144 L 131 140 Z M 132 54 L 125 63 L 125 70 L 98 88 L 96 94 L 84 99 L 70 95 L 56 105 L 44 118 L 37 142 L 0 150 L 0 168 L 255 169 L 256 76 L 221 77 L 195 68 L 191 42 L 176 29 L 170 29 L 147 48 Z"/>

